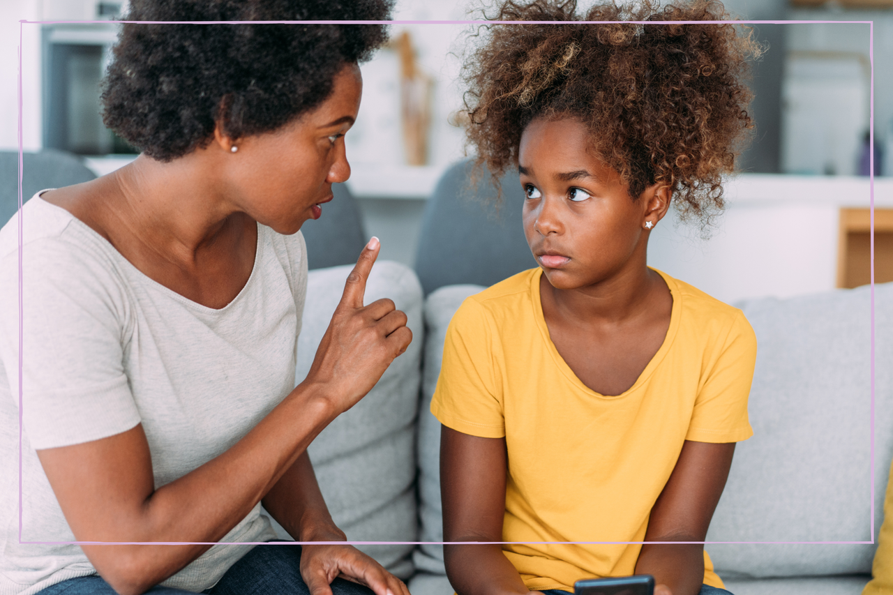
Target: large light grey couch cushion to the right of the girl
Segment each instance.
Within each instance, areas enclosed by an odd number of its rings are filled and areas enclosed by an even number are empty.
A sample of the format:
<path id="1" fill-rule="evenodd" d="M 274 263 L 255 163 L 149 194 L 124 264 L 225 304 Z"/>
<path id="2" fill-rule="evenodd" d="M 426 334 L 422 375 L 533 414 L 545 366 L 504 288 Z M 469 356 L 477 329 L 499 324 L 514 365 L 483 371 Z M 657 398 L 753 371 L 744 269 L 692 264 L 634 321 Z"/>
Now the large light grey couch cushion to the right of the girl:
<path id="1" fill-rule="evenodd" d="M 874 534 L 893 456 L 893 284 L 878 285 Z M 870 289 L 740 304 L 757 339 L 754 437 L 738 445 L 708 541 L 871 541 Z M 871 572 L 872 545 L 714 545 L 721 576 Z"/>

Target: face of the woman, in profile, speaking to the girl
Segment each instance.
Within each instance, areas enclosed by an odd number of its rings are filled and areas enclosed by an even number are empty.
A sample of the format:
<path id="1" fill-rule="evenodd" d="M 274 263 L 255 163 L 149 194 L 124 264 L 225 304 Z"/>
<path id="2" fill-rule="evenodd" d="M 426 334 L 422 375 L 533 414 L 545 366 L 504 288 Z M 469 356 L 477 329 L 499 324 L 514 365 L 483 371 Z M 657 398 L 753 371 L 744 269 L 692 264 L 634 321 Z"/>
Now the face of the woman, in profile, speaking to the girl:
<path id="1" fill-rule="evenodd" d="M 321 204 L 332 198 L 331 185 L 350 177 L 344 135 L 356 120 L 362 91 L 359 67 L 348 64 L 329 98 L 311 112 L 280 130 L 234 141 L 238 150 L 224 163 L 237 209 L 282 234 L 318 219 Z"/>

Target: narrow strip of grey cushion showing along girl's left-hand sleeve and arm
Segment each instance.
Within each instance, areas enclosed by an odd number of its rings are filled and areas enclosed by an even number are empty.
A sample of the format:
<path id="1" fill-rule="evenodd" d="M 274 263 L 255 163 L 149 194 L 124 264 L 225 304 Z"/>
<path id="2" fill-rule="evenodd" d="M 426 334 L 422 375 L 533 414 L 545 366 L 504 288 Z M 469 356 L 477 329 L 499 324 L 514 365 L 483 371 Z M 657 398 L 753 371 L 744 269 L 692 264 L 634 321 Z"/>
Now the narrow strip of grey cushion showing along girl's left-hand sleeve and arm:
<path id="1" fill-rule="evenodd" d="M 448 285 L 425 300 L 425 361 L 419 407 L 419 541 L 444 541 L 443 509 L 440 507 L 440 422 L 431 415 L 431 397 L 438 384 L 447 326 L 465 298 L 485 289 L 480 285 Z M 413 553 L 416 568 L 446 574 L 444 549 L 422 545 Z M 447 587 L 449 583 L 447 582 Z M 412 591 L 413 595 L 418 595 Z M 452 590 L 449 592 L 453 592 Z M 433 594 L 432 594 L 433 595 Z M 449 595 L 449 593 L 447 593 Z"/>

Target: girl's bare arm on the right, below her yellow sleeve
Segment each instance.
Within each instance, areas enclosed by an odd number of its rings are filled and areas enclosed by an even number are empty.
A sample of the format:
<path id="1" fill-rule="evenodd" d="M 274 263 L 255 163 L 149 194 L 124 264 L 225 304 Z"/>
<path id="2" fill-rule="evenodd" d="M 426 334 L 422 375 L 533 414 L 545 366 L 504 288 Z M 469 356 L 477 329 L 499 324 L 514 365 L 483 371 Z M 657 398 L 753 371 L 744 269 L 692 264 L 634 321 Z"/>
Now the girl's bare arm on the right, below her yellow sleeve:
<path id="1" fill-rule="evenodd" d="M 686 440 L 651 509 L 645 541 L 704 541 L 734 452 L 734 442 Z M 655 595 L 697 595 L 704 582 L 704 546 L 646 544 L 636 574 L 654 574 Z"/>

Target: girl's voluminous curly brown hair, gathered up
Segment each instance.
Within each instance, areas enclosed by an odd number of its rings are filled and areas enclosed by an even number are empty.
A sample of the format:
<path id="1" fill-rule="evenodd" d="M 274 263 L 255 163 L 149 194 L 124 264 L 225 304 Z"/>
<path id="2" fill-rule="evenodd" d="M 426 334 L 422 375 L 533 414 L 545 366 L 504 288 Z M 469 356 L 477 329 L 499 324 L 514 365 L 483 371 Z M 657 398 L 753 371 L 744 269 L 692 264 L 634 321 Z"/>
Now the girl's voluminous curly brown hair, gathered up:
<path id="1" fill-rule="evenodd" d="M 573 21 L 720 21 L 716 0 L 660 7 L 575 0 L 508 0 L 465 63 L 468 143 L 497 183 L 518 163 L 524 128 L 537 117 L 584 122 L 591 148 L 637 198 L 655 182 L 672 189 L 680 217 L 708 226 L 722 212 L 722 175 L 733 171 L 754 128 L 747 60 L 763 47 L 735 24 L 572 24 Z M 703 228 L 702 228 L 703 229 Z"/>

